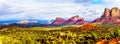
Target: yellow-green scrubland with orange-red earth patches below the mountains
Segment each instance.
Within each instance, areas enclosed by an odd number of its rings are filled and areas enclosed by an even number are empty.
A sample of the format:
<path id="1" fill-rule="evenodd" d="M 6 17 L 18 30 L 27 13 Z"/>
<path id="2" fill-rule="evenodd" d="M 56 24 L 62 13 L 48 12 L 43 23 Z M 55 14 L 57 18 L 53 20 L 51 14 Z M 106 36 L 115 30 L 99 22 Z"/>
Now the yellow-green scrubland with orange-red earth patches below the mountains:
<path id="1" fill-rule="evenodd" d="M 119 37 L 114 24 L 0 28 L 0 44 L 117 44 Z"/>

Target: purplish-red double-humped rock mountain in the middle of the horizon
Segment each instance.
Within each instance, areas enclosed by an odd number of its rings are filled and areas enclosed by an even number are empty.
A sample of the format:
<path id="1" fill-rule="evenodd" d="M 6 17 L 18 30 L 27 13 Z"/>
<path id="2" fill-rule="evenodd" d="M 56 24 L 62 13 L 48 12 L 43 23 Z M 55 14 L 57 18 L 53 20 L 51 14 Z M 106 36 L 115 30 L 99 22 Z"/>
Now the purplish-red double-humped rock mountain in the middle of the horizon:
<path id="1" fill-rule="evenodd" d="M 52 24 L 55 24 L 55 25 L 60 25 L 60 24 L 84 24 L 84 23 L 85 23 L 85 20 L 78 15 L 73 16 L 69 19 L 64 19 L 64 18 L 57 17 L 52 22 Z"/>

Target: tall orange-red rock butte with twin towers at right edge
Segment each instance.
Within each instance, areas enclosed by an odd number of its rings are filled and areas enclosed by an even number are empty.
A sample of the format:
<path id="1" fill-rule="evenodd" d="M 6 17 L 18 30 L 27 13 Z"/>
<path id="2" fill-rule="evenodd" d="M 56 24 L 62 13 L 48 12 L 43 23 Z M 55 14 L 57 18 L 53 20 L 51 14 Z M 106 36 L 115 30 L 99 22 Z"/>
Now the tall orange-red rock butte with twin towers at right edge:
<path id="1" fill-rule="evenodd" d="M 114 7 L 111 10 L 105 8 L 103 15 L 93 22 L 120 24 L 120 9 L 117 7 Z"/>

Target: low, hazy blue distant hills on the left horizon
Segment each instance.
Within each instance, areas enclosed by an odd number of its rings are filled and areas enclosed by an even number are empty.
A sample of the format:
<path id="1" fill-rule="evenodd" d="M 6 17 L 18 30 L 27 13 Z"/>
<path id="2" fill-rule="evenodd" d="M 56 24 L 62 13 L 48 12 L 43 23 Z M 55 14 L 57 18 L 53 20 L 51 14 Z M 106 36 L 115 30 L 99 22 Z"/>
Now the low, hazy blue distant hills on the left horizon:
<path id="1" fill-rule="evenodd" d="M 4 26 L 18 26 L 18 27 L 38 27 L 38 26 L 51 26 L 52 20 L 11 20 L 1 21 L 0 27 Z"/>

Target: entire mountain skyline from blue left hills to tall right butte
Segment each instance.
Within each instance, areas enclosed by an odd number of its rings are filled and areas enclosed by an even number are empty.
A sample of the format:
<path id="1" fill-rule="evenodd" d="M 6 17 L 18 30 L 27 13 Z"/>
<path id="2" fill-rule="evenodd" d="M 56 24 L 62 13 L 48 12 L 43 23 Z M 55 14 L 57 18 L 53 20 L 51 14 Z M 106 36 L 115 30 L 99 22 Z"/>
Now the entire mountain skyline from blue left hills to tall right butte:
<path id="1" fill-rule="evenodd" d="M 20 26 L 20 27 L 33 27 L 33 26 L 59 26 L 59 25 L 79 25 L 86 23 L 113 23 L 120 24 L 120 9 L 117 7 L 111 10 L 105 8 L 103 15 L 94 21 L 86 22 L 84 18 L 76 15 L 68 19 L 57 17 L 55 20 L 9 20 L 0 21 L 0 26 Z"/>

